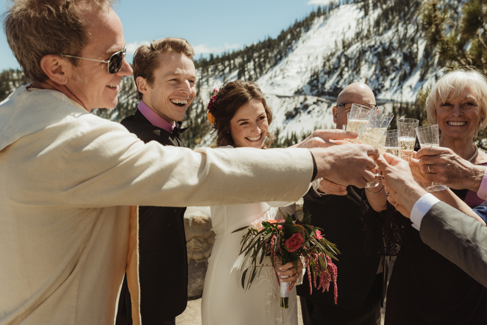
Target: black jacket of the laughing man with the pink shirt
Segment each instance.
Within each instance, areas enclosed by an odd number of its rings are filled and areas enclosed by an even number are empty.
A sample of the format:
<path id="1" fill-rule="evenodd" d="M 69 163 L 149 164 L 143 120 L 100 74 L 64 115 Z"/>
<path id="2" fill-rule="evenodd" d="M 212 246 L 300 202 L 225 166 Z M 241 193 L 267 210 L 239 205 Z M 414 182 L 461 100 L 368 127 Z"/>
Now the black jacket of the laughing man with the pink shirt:
<path id="1" fill-rule="evenodd" d="M 172 133 L 153 126 L 137 109 L 122 125 L 145 143 L 184 146 L 181 122 Z M 181 314 L 187 305 L 186 208 L 139 206 L 139 279 L 142 324 L 158 324 Z M 116 324 L 132 324 L 131 299 L 124 281 Z"/>

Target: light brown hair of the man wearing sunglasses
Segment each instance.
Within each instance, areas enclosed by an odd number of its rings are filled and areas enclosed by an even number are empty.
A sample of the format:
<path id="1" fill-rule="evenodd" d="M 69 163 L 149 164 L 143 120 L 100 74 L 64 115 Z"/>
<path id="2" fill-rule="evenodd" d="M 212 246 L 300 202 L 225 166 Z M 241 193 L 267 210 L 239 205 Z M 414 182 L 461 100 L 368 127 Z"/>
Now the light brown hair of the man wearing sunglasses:
<path id="1" fill-rule="evenodd" d="M 16 0 L 5 13 L 7 42 L 27 79 L 45 81 L 40 60 L 47 54 L 81 56 L 88 44 L 80 5 L 103 10 L 112 0 Z M 76 66 L 78 59 L 67 57 Z"/>

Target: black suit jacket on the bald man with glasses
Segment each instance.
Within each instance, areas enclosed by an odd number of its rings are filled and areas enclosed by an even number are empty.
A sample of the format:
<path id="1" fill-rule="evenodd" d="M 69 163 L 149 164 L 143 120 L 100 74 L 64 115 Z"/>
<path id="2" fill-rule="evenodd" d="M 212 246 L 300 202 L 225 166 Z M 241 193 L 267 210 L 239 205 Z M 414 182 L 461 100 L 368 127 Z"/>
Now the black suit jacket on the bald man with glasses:
<path id="1" fill-rule="evenodd" d="M 360 203 L 362 189 L 348 186 L 346 196 L 313 195 L 311 189 L 304 197 L 303 212 L 311 214 L 311 224 L 322 228 L 326 239 L 337 245 L 339 261 L 333 261 L 338 269 L 338 304 L 337 307 L 357 309 L 367 298 L 375 281 L 380 257 L 365 255 L 364 234 L 360 221 Z M 313 281 L 313 279 L 312 279 Z M 313 284 L 312 284 L 313 285 Z M 321 292 L 313 286 L 309 293 L 308 277 L 297 286 L 298 295 L 317 303 L 335 306 L 333 285 L 330 291 Z"/>

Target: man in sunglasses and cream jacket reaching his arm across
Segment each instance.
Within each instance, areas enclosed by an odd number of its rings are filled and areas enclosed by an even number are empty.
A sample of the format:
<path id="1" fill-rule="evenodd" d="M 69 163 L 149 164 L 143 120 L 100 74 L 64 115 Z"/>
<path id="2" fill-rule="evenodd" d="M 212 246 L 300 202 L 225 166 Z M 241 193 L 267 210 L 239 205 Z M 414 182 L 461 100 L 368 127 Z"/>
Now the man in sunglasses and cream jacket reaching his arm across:
<path id="1" fill-rule="evenodd" d="M 327 148 L 192 151 L 90 114 L 113 108 L 132 73 L 111 3 L 19 0 L 4 16 L 32 83 L 0 104 L 0 325 L 113 324 L 125 271 L 140 324 L 137 205 L 293 201 L 315 178 L 374 179 L 374 147 L 329 146 L 355 134 L 324 132 Z"/>

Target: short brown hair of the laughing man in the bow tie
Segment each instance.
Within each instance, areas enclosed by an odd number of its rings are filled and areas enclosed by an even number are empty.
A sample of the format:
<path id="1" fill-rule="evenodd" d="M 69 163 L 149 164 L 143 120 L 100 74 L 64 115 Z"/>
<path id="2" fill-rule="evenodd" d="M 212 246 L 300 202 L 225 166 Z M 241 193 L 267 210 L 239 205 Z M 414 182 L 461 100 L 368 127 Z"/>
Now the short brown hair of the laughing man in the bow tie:
<path id="1" fill-rule="evenodd" d="M 191 44 L 184 38 L 166 37 L 150 42 L 150 46 L 142 45 L 133 54 L 132 69 L 133 80 L 137 84 L 137 77 L 147 80 L 149 86 L 154 83 L 154 70 L 159 66 L 159 54 L 181 53 L 193 60 L 194 50 Z M 138 91 L 139 100 L 142 93 Z"/>

